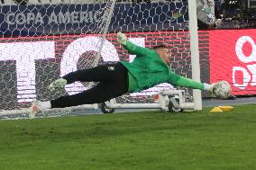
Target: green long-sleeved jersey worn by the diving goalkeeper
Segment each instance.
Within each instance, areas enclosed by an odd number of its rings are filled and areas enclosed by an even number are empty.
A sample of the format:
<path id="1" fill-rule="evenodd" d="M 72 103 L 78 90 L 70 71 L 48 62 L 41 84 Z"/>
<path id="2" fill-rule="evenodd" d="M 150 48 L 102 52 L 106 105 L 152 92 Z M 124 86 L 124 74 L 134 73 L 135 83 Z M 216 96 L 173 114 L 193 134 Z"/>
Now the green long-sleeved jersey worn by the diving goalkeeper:
<path id="1" fill-rule="evenodd" d="M 124 49 L 136 55 L 133 62 L 121 61 L 128 70 L 129 92 L 140 92 L 161 83 L 204 90 L 202 83 L 175 75 L 154 49 L 146 49 L 127 40 Z"/>

